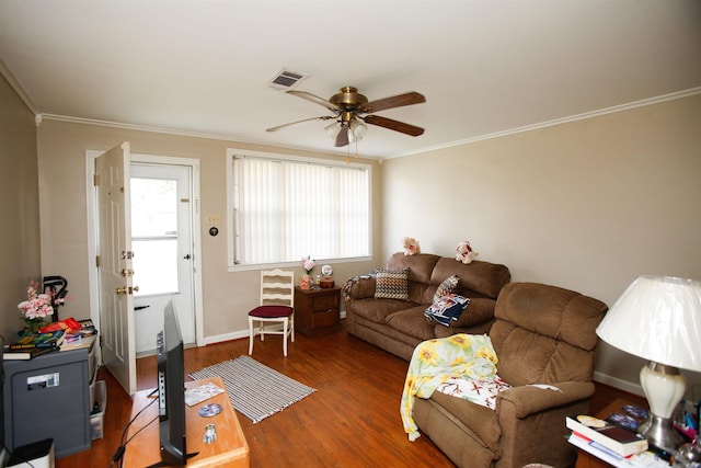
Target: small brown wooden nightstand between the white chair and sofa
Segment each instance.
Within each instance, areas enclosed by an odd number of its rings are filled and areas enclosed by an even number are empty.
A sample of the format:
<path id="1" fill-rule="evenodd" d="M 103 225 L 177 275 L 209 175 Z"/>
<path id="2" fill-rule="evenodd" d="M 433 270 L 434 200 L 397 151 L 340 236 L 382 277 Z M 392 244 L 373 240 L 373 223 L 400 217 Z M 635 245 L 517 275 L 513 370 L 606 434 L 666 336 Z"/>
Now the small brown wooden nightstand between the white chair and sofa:
<path id="1" fill-rule="evenodd" d="M 341 288 L 295 288 L 295 329 L 307 336 L 341 329 Z"/>

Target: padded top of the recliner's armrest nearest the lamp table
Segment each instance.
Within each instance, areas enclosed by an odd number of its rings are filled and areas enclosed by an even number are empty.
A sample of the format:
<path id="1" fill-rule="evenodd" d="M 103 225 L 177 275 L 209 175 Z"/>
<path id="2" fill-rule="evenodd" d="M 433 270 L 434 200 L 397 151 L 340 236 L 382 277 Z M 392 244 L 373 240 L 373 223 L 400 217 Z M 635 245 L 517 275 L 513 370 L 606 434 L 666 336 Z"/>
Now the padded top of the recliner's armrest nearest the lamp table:
<path id="1" fill-rule="evenodd" d="M 539 411 L 590 398 L 595 390 L 590 381 L 563 381 L 552 384 L 552 387 L 556 387 L 558 390 L 533 385 L 504 390 L 496 397 L 496 411 L 498 413 L 501 406 L 506 401 L 514 407 L 517 418 L 527 418 Z"/>

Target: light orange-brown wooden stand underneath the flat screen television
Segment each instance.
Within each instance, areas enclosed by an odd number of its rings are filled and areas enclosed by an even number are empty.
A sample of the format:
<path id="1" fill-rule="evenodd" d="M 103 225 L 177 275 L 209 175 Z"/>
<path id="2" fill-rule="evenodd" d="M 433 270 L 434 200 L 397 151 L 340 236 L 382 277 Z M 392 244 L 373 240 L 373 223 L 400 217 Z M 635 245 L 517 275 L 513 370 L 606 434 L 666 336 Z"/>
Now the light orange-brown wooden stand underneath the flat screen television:
<path id="1" fill-rule="evenodd" d="M 204 384 L 214 384 L 225 390 L 227 388 L 223 385 L 221 377 L 186 381 L 185 388 L 196 388 Z M 158 397 L 153 395 L 152 390 L 137 392 L 131 399 L 131 418 L 149 404 L 153 398 Z M 212 418 L 200 416 L 199 409 L 208 403 L 221 404 L 221 413 Z M 131 424 L 127 434 L 127 440 L 157 415 L 158 404 L 153 403 L 143 411 L 143 414 L 141 414 L 134 424 Z M 249 444 L 243 436 L 239 418 L 233 411 L 231 400 L 229 400 L 229 395 L 226 391 L 197 403 L 194 407 L 186 407 L 185 421 L 187 425 L 187 452 L 193 454 L 188 454 L 187 467 L 238 468 L 251 466 Z M 210 423 L 216 426 L 217 440 L 211 444 L 205 444 L 203 441 L 205 426 Z M 163 466 L 161 465 L 157 422 L 149 424 L 127 444 L 126 452 L 124 453 L 124 466 Z"/>

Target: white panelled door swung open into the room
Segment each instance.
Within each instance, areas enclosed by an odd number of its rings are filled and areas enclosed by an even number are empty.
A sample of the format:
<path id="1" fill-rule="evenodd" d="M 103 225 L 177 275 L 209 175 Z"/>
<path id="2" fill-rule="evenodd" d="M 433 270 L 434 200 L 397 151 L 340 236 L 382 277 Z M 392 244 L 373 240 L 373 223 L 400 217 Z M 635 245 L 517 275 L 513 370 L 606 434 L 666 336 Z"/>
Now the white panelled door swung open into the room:
<path id="1" fill-rule="evenodd" d="M 136 392 L 134 287 L 127 141 L 95 160 L 102 362 L 129 395 Z"/>

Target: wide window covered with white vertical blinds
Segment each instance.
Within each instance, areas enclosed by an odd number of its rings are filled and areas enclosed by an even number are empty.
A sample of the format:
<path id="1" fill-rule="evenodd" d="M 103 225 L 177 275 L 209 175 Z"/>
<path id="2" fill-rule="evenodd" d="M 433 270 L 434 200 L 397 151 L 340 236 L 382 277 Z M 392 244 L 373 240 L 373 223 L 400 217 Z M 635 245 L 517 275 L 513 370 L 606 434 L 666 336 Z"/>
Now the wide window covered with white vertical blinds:
<path id="1" fill-rule="evenodd" d="M 230 266 L 370 254 L 370 167 L 229 150 Z"/>

